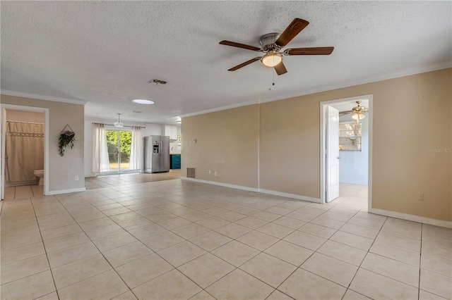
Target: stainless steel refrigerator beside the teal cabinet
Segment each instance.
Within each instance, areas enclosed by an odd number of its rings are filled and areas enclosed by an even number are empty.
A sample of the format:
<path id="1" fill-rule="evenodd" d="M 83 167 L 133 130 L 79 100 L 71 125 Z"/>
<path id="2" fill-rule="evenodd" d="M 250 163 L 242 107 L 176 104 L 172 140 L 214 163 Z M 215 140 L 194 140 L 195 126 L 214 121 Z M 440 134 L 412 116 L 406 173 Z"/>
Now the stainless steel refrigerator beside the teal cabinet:
<path id="1" fill-rule="evenodd" d="M 144 172 L 169 172 L 169 137 L 144 137 Z"/>

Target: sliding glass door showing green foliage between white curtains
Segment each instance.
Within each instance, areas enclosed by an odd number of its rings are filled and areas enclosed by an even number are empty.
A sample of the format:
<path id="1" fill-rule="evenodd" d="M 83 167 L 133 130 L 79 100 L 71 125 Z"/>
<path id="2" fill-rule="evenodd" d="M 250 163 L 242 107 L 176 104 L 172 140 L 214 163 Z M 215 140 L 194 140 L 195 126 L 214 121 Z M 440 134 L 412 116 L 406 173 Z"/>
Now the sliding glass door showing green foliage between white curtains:
<path id="1" fill-rule="evenodd" d="M 127 130 L 105 130 L 110 161 L 109 174 L 133 173 L 129 170 L 132 132 Z"/>

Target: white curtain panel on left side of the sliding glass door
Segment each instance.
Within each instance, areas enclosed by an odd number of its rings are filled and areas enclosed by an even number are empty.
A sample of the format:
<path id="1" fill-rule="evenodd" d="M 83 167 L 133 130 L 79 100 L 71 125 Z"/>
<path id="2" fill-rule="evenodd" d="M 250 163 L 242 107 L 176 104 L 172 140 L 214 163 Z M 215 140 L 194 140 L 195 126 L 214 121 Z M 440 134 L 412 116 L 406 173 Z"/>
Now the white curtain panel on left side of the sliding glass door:
<path id="1" fill-rule="evenodd" d="M 93 174 L 110 171 L 107 136 L 103 124 L 93 124 Z"/>

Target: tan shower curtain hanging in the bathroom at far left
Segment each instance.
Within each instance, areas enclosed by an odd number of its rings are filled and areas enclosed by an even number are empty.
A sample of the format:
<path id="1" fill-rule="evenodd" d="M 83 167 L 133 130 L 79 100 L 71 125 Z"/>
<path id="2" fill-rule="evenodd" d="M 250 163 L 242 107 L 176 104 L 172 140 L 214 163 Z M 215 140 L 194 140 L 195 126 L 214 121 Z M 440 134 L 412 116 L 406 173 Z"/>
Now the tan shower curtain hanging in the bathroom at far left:
<path id="1" fill-rule="evenodd" d="M 35 183 L 35 170 L 44 169 L 44 124 L 7 121 L 5 180 L 8 184 Z"/>

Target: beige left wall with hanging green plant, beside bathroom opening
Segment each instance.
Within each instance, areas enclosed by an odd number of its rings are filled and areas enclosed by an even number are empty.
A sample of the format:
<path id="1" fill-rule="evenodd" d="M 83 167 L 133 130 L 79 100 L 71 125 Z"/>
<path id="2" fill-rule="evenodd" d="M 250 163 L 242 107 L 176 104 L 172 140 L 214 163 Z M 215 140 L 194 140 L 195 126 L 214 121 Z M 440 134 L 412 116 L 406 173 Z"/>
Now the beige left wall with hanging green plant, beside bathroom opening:
<path id="1" fill-rule="evenodd" d="M 49 192 L 83 189 L 84 106 L 7 95 L 1 95 L 0 103 L 49 109 Z M 59 134 L 66 124 L 76 132 L 76 143 L 60 156 Z M 75 176 L 80 180 L 75 181 Z"/>

